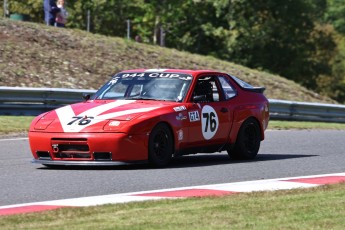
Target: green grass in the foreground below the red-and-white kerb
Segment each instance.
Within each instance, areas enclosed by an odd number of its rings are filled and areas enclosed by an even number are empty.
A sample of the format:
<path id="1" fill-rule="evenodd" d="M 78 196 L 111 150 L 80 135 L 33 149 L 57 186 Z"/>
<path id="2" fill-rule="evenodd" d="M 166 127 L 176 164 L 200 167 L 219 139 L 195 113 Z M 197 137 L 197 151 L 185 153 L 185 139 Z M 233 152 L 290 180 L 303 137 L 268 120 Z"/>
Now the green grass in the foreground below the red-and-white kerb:
<path id="1" fill-rule="evenodd" d="M 344 229 L 345 183 L 63 208 L 0 217 L 0 229 Z"/>

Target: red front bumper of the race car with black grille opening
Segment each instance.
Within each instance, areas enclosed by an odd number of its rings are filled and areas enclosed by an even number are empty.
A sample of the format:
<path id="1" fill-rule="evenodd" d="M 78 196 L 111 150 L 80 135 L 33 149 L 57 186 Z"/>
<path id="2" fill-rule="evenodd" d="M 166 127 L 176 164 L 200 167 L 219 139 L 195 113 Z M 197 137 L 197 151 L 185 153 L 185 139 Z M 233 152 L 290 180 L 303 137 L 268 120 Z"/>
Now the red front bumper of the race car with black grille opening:
<path id="1" fill-rule="evenodd" d="M 29 132 L 34 163 L 119 165 L 148 159 L 148 135 Z"/>

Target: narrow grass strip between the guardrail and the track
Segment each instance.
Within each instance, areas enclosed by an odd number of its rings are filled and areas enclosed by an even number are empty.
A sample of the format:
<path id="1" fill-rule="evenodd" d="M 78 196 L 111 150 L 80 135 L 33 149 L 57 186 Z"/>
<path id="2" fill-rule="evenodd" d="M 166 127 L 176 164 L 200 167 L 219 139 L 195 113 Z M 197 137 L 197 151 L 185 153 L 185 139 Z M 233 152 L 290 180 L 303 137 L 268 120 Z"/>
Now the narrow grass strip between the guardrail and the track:
<path id="1" fill-rule="evenodd" d="M 30 123 L 34 117 L 31 116 L 0 116 L 0 135 L 27 133 Z M 301 121 L 270 121 L 268 129 L 330 129 L 345 130 L 345 124 L 325 122 L 301 122 Z"/>

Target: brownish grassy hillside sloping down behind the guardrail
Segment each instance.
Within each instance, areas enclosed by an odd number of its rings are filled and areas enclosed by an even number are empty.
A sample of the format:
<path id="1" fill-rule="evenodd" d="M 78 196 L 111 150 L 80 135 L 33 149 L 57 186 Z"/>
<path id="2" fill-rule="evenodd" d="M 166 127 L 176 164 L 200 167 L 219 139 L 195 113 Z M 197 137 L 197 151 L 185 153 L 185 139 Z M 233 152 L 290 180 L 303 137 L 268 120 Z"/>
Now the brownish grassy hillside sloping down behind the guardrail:
<path id="1" fill-rule="evenodd" d="M 280 76 L 212 57 L 0 18 L 0 86 L 97 89 L 113 73 L 134 68 L 214 69 L 266 87 L 271 99 L 335 103 Z"/>

